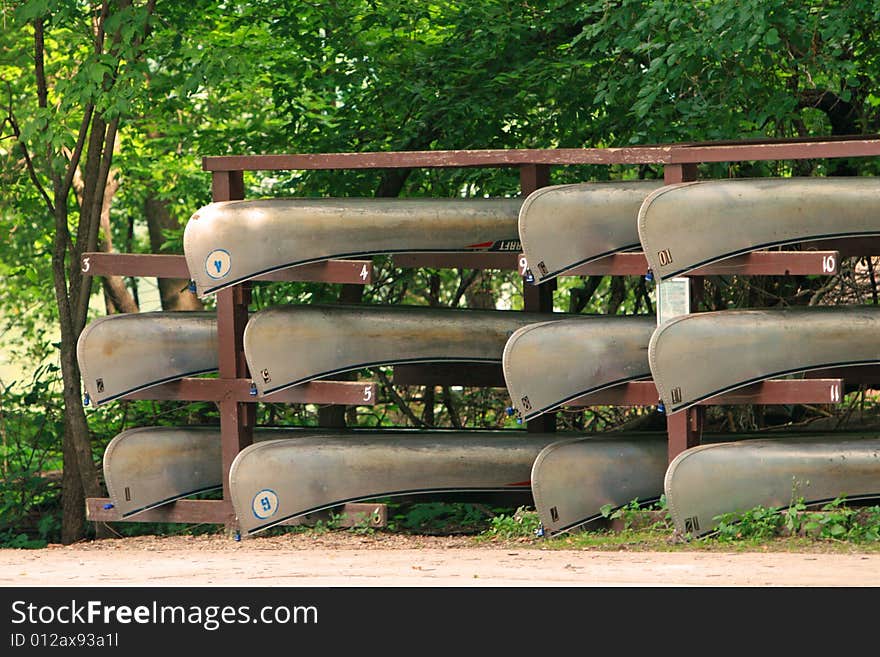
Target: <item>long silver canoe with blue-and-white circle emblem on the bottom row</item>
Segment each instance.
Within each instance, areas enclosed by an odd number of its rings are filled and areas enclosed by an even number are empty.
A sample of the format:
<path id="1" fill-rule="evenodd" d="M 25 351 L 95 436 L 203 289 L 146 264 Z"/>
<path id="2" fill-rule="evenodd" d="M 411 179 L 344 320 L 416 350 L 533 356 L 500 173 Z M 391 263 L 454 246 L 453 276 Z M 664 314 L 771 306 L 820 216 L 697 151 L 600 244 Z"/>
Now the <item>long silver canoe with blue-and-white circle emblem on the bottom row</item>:
<path id="1" fill-rule="evenodd" d="M 428 493 L 530 490 L 532 463 L 555 434 L 525 431 L 314 436 L 244 448 L 229 472 L 242 531 L 347 502 Z"/>

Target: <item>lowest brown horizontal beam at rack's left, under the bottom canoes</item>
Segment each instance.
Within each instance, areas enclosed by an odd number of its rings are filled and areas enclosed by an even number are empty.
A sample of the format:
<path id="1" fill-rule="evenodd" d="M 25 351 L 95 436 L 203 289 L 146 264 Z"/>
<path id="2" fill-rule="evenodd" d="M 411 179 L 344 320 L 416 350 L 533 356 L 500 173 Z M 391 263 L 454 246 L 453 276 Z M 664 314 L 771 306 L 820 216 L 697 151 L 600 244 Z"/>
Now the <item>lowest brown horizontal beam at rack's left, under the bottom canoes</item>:
<path id="1" fill-rule="evenodd" d="M 92 522 L 170 522 L 183 524 L 228 525 L 235 521 L 232 504 L 225 500 L 177 500 L 148 511 L 123 518 L 112 507 L 109 497 L 86 498 L 86 518 Z M 388 524 L 386 504 L 343 504 L 338 510 L 339 527 L 385 527 Z M 280 524 L 309 524 L 312 515 L 291 518 Z"/>

